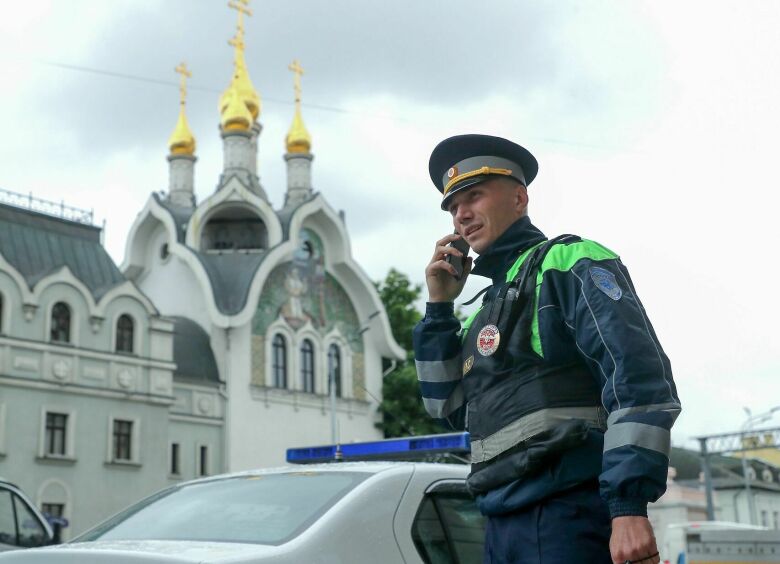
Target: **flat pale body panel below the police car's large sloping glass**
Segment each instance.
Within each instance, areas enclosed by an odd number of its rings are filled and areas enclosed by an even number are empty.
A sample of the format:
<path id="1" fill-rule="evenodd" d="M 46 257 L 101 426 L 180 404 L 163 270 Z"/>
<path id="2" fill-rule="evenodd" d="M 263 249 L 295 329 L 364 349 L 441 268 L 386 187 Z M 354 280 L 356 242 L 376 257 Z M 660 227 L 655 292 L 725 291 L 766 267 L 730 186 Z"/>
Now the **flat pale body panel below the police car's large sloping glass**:
<path id="1" fill-rule="evenodd" d="M 94 541 L 15 551 L 3 564 L 193 564 L 241 561 L 278 552 L 278 547 L 227 542 L 125 540 Z M 7 559 L 7 560 L 6 560 Z"/>

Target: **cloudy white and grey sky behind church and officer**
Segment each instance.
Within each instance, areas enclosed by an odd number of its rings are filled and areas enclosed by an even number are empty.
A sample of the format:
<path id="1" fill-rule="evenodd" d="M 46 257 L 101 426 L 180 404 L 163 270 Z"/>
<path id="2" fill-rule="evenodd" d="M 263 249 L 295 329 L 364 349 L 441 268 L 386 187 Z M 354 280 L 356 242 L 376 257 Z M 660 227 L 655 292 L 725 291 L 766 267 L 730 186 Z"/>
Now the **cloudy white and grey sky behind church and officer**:
<path id="1" fill-rule="evenodd" d="M 510 137 L 540 162 L 534 223 L 598 240 L 631 270 L 683 401 L 675 444 L 738 429 L 743 407 L 780 405 L 780 3 L 252 4 L 247 64 L 272 204 L 294 58 L 315 188 L 344 210 L 374 280 L 395 267 L 422 282 L 451 230 L 427 175 L 433 146 Z M 0 188 L 93 208 L 121 263 L 137 211 L 167 188 L 182 60 L 198 197 L 216 186 L 234 26 L 221 0 L 4 1 Z"/>

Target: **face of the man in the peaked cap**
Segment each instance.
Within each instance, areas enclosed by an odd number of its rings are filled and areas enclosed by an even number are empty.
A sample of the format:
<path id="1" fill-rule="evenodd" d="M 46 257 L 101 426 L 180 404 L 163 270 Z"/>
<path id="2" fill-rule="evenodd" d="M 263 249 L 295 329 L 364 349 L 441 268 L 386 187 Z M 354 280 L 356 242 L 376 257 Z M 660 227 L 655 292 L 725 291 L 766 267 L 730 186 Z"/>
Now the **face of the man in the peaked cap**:
<path id="1" fill-rule="evenodd" d="M 458 233 L 481 254 L 524 215 L 527 204 L 522 184 L 491 178 L 453 195 L 447 210 Z"/>

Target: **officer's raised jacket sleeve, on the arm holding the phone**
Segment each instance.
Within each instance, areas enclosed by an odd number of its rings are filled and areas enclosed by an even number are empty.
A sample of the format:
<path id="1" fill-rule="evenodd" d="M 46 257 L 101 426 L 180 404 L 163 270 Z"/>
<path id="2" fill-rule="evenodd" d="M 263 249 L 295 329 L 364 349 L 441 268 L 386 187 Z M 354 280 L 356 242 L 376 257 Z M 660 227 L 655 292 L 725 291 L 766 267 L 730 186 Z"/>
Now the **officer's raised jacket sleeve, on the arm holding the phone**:
<path id="1" fill-rule="evenodd" d="M 423 403 L 445 428 L 465 428 L 460 322 L 452 302 L 428 303 L 414 328 L 414 359 Z"/>

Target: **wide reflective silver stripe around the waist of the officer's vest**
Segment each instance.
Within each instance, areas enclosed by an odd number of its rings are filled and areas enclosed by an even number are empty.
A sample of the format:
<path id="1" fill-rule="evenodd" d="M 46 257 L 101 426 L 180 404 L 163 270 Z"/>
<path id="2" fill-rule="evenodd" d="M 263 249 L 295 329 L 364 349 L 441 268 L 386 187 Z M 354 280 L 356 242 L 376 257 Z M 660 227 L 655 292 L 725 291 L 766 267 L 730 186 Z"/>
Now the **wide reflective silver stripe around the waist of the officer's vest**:
<path id="1" fill-rule="evenodd" d="M 471 439 L 471 462 L 485 462 L 543 431 L 549 431 L 569 419 L 581 419 L 601 427 L 600 407 L 549 407 L 540 409 L 499 429 L 484 439 Z"/>

